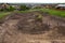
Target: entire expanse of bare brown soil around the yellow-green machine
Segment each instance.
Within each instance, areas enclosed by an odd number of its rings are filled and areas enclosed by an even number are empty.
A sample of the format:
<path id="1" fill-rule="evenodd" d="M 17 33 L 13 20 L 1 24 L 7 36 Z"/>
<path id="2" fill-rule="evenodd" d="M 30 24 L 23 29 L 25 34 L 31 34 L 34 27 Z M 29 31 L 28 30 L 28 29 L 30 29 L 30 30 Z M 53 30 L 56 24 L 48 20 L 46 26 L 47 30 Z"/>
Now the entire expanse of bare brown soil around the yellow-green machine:
<path id="1" fill-rule="evenodd" d="M 42 14 L 42 23 L 35 22 L 36 13 Z M 65 18 L 41 12 L 12 13 L 0 26 L 0 43 L 65 43 Z"/>

